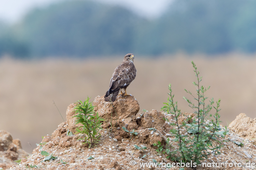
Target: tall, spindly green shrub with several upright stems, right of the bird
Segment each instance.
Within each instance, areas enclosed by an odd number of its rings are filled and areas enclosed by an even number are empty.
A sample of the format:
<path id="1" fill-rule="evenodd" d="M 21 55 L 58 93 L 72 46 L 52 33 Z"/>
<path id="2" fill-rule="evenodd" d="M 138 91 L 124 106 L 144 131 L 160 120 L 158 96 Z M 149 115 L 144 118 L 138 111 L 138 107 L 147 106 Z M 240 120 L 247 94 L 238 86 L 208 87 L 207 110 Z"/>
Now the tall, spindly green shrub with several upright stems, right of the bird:
<path id="1" fill-rule="evenodd" d="M 174 115 L 174 123 L 169 122 L 171 126 L 175 128 L 171 129 L 170 132 L 174 135 L 174 139 L 167 139 L 166 146 L 162 146 L 161 143 L 154 143 L 154 146 L 158 146 L 157 151 L 167 154 L 167 158 L 170 158 L 172 161 L 182 161 L 182 162 L 196 162 L 200 163 L 200 160 L 207 158 L 211 153 L 219 153 L 219 149 L 222 147 L 222 142 L 225 139 L 225 135 L 228 134 L 227 127 L 222 131 L 219 125 L 219 106 L 220 99 L 216 102 L 216 107 L 213 106 L 214 100 L 210 99 L 209 104 L 206 104 L 205 101 L 205 92 L 210 88 L 205 88 L 200 86 L 199 83 L 202 80 L 202 77 L 199 77 L 199 72 L 194 62 L 191 62 L 194 67 L 194 72 L 196 73 L 197 82 L 193 82 L 196 87 L 196 95 L 193 95 L 190 91 L 186 90 L 195 100 L 195 103 L 183 97 L 189 104 L 189 106 L 194 110 L 196 119 L 192 117 L 187 117 L 177 108 L 177 101 L 174 102 L 174 95 L 172 95 L 171 84 L 169 85 L 169 96 L 168 102 L 164 103 L 165 106 L 162 108 L 163 111 L 168 114 Z M 212 115 L 209 115 L 212 107 L 216 110 L 214 114 L 214 119 L 211 119 Z M 183 123 L 178 123 L 180 117 L 186 116 L 187 119 Z M 210 119 L 208 121 L 207 119 Z M 191 123 L 187 123 L 191 122 Z M 181 129 L 185 129 L 187 134 L 182 134 Z M 220 140 L 221 139 L 221 140 Z M 176 147 L 175 147 L 176 146 Z"/>

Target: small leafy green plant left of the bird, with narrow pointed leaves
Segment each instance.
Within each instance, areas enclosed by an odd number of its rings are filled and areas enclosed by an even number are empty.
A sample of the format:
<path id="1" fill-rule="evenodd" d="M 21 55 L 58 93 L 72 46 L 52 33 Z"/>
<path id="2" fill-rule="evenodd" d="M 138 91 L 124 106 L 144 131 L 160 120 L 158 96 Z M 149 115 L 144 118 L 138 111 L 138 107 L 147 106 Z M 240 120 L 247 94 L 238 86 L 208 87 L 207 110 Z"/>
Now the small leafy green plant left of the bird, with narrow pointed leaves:
<path id="1" fill-rule="evenodd" d="M 100 141 L 101 134 L 99 130 L 102 129 L 100 126 L 102 121 L 104 121 L 104 119 L 99 117 L 98 112 L 94 112 L 93 108 L 92 102 L 89 103 L 89 98 L 84 102 L 79 100 L 77 106 L 74 108 L 77 115 L 73 116 L 77 117 L 76 124 L 81 123 L 83 125 L 76 128 L 76 133 L 80 133 L 83 136 L 83 138 L 79 137 L 78 140 L 84 140 L 83 144 L 87 144 L 89 148 Z"/>

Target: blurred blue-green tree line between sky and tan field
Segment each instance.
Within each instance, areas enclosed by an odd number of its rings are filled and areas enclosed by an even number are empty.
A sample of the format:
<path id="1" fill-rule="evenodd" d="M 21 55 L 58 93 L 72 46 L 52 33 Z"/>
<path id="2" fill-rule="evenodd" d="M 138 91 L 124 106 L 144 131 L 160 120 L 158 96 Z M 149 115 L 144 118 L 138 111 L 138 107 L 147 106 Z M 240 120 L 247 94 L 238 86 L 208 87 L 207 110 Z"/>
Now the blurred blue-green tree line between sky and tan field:
<path id="1" fill-rule="evenodd" d="M 0 56 L 218 54 L 256 51 L 256 1 L 176 0 L 157 19 L 92 1 L 64 1 L 0 23 Z"/>

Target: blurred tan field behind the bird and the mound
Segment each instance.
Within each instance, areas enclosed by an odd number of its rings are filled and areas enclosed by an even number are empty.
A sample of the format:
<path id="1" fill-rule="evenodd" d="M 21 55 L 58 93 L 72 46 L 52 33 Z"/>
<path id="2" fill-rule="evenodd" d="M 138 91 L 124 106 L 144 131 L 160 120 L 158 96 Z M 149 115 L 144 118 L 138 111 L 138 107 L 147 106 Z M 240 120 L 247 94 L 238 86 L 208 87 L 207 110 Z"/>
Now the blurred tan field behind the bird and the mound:
<path id="1" fill-rule="evenodd" d="M 31 153 L 41 136 L 51 133 L 63 122 L 68 105 L 87 96 L 91 101 L 108 90 L 113 70 L 123 57 L 102 59 L 46 59 L 20 61 L 0 60 L 0 129 L 7 130 L 13 138 L 22 141 L 23 148 Z M 192 82 L 196 80 L 193 60 L 202 84 L 211 86 L 208 97 L 221 98 L 222 124 L 227 125 L 243 112 L 254 118 L 256 96 L 255 56 L 225 55 L 210 59 L 207 56 L 183 54 L 146 59 L 136 56 L 134 64 L 137 77 L 127 88 L 142 109 L 161 110 L 168 98 L 171 83 L 178 107 L 193 112 L 183 96 L 184 88 L 195 93 Z M 213 113 L 213 112 L 212 112 Z M 65 119 L 66 120 L 66 119 Z"/>

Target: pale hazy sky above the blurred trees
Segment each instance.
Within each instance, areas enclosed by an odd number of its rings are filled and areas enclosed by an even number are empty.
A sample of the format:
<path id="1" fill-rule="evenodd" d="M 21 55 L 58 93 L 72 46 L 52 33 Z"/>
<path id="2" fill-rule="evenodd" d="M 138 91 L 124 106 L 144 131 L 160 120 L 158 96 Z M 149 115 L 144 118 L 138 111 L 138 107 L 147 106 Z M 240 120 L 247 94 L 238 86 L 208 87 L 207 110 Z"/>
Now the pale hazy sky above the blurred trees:
<path id="1" fill-rule="evenodd" d="M 44 7 L 64 0 L 0 0 L 0 19 L 16 22 L 34 7 Z M 93 0 L 123 5 L 140 15 L 157 17 L 173 0 Z"/>

